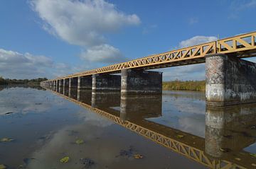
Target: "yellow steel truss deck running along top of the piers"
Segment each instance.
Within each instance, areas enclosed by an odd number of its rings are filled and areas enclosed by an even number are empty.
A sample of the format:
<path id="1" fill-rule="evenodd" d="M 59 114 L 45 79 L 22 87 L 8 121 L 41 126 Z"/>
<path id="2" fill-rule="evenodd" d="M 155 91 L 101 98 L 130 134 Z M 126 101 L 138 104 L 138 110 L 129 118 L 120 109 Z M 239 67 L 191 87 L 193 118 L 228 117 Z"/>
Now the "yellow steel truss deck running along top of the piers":
<path id="1" fill-rule="evenodd" d="M 179 66 L 181 63 L 196 64 L 205 62 L 203 59 L 207 54 L 233 54 L 238 57 L 256 57 L 256 32 L 228 37 L 225 39 L 176 49 L 161 54 L 153 54 L 149 57 L 134 59 L 129 62 L 112 64 L 98 69 L 82 71 L 68 76 L 61 76 L 52 80 L 62 78 L 74 78 L 78 76 L 90 76 L 92 74 L 119 73 L 122 69 L 159 69 L 164 67 Z M 48 81 L 52 81 L 48 80 Z"/>

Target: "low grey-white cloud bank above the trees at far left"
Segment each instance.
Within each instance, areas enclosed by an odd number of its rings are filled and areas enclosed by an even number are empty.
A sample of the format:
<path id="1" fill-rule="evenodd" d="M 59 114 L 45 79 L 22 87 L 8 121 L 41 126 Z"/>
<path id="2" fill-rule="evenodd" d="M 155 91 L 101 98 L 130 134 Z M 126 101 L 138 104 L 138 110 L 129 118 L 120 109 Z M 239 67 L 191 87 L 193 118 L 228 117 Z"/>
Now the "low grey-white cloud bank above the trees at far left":
<path id="1" fill-rule="evenodd" d="M 0 49 L 0 76 L 5 78 L 38 78 L 60 76 L 80 70 L 64 63 L 55 63 L 49 57 Z"/>

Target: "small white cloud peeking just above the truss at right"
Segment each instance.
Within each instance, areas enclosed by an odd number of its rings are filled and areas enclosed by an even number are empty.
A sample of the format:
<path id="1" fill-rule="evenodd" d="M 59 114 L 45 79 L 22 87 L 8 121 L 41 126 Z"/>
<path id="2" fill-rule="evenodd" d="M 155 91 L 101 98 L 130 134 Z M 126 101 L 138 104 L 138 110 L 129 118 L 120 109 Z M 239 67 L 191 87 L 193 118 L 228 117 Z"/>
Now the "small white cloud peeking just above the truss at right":
<path id="1" fill-rule="evenodd" d="M 199 45 L 201 43 L 212 42 L 218 40 L 215 36 L 194 36 L 188 40 L 183 40 L 179 43 L 179 47 L 190 47 L 193 45 Z"/>

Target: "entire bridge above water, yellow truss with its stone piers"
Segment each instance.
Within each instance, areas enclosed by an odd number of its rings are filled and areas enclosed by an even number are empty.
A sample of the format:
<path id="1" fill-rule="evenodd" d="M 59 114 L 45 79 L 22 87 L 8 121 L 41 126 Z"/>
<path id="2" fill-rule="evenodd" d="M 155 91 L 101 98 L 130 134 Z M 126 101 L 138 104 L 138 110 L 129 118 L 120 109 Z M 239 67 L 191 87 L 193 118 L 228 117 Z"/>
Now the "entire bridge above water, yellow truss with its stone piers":
<path id="1" fill-rule="evenodd" d="M 161 93 L 162 73 L 146 71 L 206 63 L 206 103 L 213 106 L 256 102 L 256 32 L 176 49 L 99 69 L 61 76 L 43 85 L 121 91 L 122 94 Z M 119 75 L 113 75 L 121 73 Z"/>

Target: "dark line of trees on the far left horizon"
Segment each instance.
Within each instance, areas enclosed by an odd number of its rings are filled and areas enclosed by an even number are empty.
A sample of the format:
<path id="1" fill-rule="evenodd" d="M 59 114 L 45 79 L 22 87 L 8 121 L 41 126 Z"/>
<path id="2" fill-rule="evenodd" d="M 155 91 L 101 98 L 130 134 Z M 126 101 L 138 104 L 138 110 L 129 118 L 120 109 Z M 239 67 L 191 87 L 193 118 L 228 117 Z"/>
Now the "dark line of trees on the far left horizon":
<path id="1" fill-rule="evenodd" d="M 47 78 L 35 78 L 35 79 L 9 79 L 2 78 L 0 76 L 0 85 L 14 85 L 14 84 L 28 84 L 28 85 L 39 85 L 41 81 L 46 81 Z"/>

